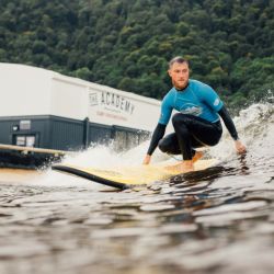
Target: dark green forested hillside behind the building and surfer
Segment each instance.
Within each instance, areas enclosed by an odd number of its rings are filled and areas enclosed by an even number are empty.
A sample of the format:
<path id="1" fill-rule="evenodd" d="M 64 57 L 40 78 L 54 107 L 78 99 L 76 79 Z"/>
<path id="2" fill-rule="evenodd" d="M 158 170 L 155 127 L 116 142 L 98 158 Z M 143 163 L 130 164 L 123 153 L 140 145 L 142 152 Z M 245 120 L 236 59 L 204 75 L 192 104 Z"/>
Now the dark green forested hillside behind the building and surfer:
<path id="1" fill-rule="evenodd" d="M 274 90 L 274 0 L 1 0 L 0 61 L 160 99 L 167 62 L 232 105 Z"/>

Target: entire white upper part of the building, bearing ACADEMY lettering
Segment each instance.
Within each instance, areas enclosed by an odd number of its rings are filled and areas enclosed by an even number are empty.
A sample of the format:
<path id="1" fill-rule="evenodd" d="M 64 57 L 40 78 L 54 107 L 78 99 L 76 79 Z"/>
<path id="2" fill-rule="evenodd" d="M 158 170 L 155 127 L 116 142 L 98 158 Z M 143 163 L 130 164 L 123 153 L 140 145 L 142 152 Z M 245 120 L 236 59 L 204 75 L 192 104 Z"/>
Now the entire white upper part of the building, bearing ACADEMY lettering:
<path id="1" fill-rule="evenodd" d="M 25 65 L 0 62 L 0 117 L 53 115 L 152 130 L 160 102 Z"/>

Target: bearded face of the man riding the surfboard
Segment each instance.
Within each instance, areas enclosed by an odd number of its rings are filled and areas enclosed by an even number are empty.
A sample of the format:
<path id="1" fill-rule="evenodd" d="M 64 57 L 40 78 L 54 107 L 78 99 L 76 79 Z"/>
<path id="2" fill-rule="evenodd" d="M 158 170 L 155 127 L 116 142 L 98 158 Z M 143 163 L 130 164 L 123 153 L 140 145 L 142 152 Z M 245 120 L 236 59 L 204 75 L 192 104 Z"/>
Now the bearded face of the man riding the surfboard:
<path id="1" fill-rule="evenodd" d="M 171 77 L 173 85 L 178 90 L 184 89 L 190 79 L 190 68 L 187 62 L 174 62 L 169 69 L 169 76 Z"/>

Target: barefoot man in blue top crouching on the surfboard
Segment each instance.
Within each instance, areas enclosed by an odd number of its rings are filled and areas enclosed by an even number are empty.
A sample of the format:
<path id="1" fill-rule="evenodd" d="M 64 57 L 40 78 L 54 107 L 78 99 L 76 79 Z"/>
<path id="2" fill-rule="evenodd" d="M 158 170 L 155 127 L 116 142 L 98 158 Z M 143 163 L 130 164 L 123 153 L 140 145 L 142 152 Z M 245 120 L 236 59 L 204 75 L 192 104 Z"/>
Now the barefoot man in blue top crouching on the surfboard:
<path id="1" fill-rule="evenodd" d="M 182 153 L 183 161 L 173 165 L 172 170 L 193 171 L 193 163 L 203 157 L 203 152 L 195 151 L 195 148 L 215 146 L 220 140 L 222 128 L 219 116 L 235 140 L 237 152 L 246 152 L 235 124 L 217 93 L 209 85 L 190 79 L 189 61 L 181 56 L 173 58 L 169 62 L 168 72 L 173 88 L 163 98 L 160 119 L 142 163 L 149 164 L 159 146 L 162 152 Z M 179 111 L 172 116 L 174 133 L 163 138 L 173 109 Z"/>

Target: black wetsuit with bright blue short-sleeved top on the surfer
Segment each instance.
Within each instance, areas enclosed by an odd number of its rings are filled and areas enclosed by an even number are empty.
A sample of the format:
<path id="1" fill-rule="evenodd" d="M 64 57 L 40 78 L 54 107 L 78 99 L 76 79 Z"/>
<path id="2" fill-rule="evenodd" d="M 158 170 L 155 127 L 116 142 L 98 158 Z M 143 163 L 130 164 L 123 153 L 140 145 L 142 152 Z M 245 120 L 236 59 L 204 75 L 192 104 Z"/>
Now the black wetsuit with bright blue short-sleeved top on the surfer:
<path id="1" fill-rule="evenodd" d="M 174 133 L 163 137 L 171 113 Z M 222 128 L 221 116 L 231 137 L 237 140 L 235 124 L 217 93 L 207 84 L 189 80 L 184 90 L 172 88 L 161 104 L 161 116 L 152 134 L 148 155 L 152 155 L 157 146 L 160 150 L 172 155 L 183 155 L 184 160 L 191 160 L 194 148 L 215 146 L 218 144 Z"/>

